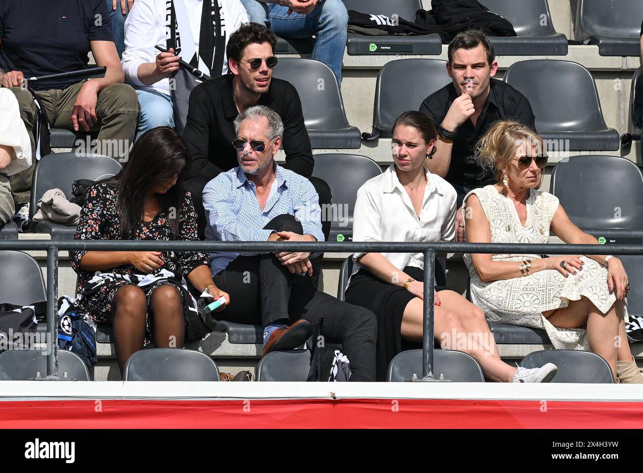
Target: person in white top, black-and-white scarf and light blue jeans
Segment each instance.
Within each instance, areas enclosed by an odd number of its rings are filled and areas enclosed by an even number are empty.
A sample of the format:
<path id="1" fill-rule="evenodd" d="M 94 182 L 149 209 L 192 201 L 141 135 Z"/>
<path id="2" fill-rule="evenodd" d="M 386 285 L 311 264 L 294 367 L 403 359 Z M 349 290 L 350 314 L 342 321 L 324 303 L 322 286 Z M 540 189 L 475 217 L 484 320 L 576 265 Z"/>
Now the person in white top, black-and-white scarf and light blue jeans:
<path id="1" fill-rule="evenodd" d="M 212 24 L 202 21 L 203 12 Z M 225 37 L 221 70 L 213 64 L 217 17 Z M 136 89 L 141 104 L 136 138 L 152 128 L 174 127 L 169 78 L 179 68 L 179 57 L 211 77 L 227 73 L 225 45 L 243 23 L 248 23 L 248 14 L 240 0 L 134 1 L 125 21 L 121 62 L 125 82 Z M 155 46 L 170 52 L 159 53 Z"/>

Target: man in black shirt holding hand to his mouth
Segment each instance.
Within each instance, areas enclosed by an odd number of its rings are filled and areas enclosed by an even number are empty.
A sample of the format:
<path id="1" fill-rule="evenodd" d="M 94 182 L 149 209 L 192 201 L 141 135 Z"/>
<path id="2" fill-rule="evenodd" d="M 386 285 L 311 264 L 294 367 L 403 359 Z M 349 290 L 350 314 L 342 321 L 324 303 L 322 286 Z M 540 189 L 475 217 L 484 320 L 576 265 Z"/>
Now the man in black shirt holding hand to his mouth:
<path id="1" fill-rule="evenodd" d="M 471 189 L 493 184 L 493 173 L 484 172 L 475 160 L 475 147 L 497 120 L 512 118 L 532 129 L 534 113 L 529 100 L 502 80 L 493 44 L 480 30 L 459 33 L 448 49 L 446 64 L 451 84 L 424 99 L 420 111 L 438 126 L 429 171 L 446 178 L 458 193 L 458 207 Z M 456 240 L 464 240 L 462 212 L 457 212 Z"/>

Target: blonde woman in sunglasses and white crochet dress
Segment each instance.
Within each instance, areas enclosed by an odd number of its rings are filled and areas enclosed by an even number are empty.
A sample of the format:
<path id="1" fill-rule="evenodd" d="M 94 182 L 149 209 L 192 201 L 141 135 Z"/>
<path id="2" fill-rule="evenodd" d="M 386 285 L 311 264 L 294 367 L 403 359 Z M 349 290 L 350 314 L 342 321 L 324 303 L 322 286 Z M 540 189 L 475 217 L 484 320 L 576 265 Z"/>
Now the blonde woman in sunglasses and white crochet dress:
<path id="1" fill-rule="evenodd" d="M 552 232 L 565 243 L 598 244 L 556 196 L 538 190 L 547 163 L 542 150 L 541 138 L 518 122 L 497 122 L 481 138 L 480 162 L 498 183 L 467 194 L 467 241 L 547 243 Z M 554 348 L 589 349 L 620 382 L 643 383 L 625 333 L 629 282 L 617 257 L 467 254 L 465 262 L 471 300 L 487 320 L 544 328 Z"/>

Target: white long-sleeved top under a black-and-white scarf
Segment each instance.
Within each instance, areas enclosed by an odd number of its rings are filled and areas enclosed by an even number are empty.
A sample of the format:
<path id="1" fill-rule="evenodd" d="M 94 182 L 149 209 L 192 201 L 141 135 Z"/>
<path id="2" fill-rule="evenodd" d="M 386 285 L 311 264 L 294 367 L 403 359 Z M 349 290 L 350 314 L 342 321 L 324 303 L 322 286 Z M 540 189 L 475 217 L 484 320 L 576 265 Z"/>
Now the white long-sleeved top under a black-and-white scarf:
<path id="1" fill-rule="evenodd" d="M 183 0 L 188 14 L 188 21 L 192 26 L 192 39 L 195 48 L 199 51 L 199 32 L 201 31 L 201 11 L 203 0 Z M 170 95 L 170 82 L 161 79 L 156 84 L 147 86 L 138 80 L 138 67 L 145 62 L 155 62 L 159 54 L 154 46 L 166 48 L 166 0 L 136 0 L 134 6 L 125 20 L 125 51 L 121 64 L 125 71 L 125 82 L 134 89 L 156 90 Z M 248 13 L 240 0 L 219 0 L 222 9 L 221 30 L 226 35 L 226 42 L 230 35 L 237 31 L 241 24 L 248 23 Z M 185 40 L 184 40 L 185 41 Z M 185 62 L 190 62 L 191 57 L 181 57 Z M 199 70 L 208 73 L 208 66 L 199 58 Z M 224 53 L 223 73 L 228 72 L 228 58 Z"/>

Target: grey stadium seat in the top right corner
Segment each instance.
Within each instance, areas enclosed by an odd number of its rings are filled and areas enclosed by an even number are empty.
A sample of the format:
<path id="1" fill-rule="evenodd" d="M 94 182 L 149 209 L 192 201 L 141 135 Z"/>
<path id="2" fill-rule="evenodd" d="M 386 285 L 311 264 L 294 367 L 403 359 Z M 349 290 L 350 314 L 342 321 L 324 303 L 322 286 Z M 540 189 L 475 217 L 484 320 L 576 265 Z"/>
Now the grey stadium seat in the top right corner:
<path id="1" fill-rule="evenodd" d="M 640 55 L 640 0 L 578 0 L 576 39 L 596 44 L 601 56 Z"/>

